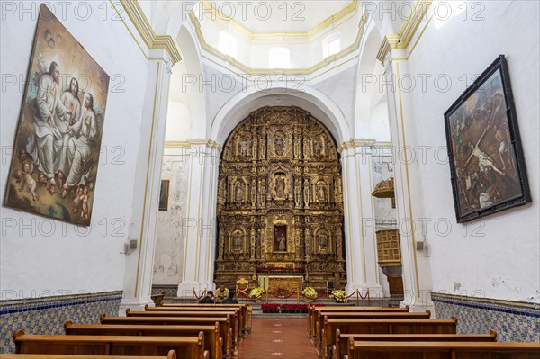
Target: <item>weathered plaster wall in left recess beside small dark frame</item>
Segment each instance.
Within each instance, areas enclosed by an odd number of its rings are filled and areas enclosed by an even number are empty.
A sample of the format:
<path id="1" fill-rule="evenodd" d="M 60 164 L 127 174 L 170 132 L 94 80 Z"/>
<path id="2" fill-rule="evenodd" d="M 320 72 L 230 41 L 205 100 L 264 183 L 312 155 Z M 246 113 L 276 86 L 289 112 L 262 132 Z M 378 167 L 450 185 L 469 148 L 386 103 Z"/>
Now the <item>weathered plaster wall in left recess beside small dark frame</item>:
<path id="1" fill-rule="evenodd" d="M 161 179 L 169 180 L 167 211 L 157 213 L 153 284 L 178 284 L 184 267 L 189 164 L 183 149 L 165 149 Z"/>

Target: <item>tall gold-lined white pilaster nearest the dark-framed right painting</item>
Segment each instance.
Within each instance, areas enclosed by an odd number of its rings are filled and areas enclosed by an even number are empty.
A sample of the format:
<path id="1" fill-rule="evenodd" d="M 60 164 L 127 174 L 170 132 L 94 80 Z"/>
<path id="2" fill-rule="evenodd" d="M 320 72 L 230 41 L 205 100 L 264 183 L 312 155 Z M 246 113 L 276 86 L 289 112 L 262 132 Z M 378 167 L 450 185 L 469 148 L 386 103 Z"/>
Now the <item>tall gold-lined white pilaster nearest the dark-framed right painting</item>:
<path id="1" fill-rule="evenodd" d="M 392 61 L 392 58 L 396 58 Z M 428 258 L 417 252 L 416 241 L 421 238 L 421 221 L 425 219 L 419 184 L 418 150 L 415 136 L 414 112 L 410 95 L 401 91 L 400 79 L 409 75 L 403 49 L 392 49 L 385 59 L 385 83 L 390 108 L 390 129 L 394 156 L 394 191 L 401 241 L 404 300 L 411 311 L 431 310 L 431 269 Z M 415 201 L 415 199 L 417 199 Z"/>

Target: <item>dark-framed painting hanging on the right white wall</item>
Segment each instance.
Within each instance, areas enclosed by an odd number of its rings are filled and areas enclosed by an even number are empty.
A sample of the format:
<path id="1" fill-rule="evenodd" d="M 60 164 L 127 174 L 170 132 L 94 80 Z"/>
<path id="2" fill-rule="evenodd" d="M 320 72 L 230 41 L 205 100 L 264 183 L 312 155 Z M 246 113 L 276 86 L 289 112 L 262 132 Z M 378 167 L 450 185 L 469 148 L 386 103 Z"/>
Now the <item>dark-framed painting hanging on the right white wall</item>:
<path id="1" fill-rule="evenodd" d="M 445 126 L 459 223 L 531 202 L 504 55 L 446 111 Z"/>

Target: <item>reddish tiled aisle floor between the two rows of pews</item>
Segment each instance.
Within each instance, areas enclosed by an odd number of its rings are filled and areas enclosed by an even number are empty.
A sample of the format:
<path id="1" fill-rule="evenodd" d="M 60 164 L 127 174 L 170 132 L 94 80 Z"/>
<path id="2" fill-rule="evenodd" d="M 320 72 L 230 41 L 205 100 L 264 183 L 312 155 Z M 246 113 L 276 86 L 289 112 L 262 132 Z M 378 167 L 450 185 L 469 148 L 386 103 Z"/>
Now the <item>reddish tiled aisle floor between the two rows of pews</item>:
<path id="1" fill-rule="evenodd" d="M 317 359 L 307 332 L 307 318 L 254 318 L 251 335 L 238 350 L 238 359 Z"/>

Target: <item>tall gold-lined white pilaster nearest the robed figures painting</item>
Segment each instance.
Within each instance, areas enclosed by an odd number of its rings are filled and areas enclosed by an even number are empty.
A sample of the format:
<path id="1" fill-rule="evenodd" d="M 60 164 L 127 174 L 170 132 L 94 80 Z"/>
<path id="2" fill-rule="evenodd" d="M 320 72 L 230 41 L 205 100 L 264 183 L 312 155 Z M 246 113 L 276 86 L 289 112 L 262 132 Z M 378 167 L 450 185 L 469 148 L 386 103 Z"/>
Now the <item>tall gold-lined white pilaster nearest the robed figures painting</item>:
<path id="1" fill-rule="evenodd" d="M 150 295 L 172 64 L 165 50 L 150 53 L 130 228 L 130 239 L 137 240 L 137 249 L 128 249 L 126 254 L 120 315 L 125 315 L 127 308 L 142 310 L 145 304 L 153 305 Z"/>

